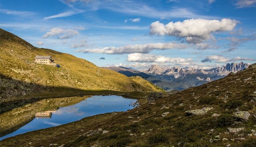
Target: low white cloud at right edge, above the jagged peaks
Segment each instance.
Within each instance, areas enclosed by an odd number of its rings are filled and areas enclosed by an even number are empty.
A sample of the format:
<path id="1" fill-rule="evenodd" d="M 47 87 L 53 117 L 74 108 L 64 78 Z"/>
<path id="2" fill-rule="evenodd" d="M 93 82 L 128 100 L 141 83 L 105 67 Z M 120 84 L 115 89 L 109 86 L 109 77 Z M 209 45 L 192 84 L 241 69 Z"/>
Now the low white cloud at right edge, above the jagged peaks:
<path id="1" fill-rule="evenodd" d="M 203 59 L 201 62 L 229 62 L 229 61 L 242 61 L 242 60 L 246 60 L 246 61 L 255 61 L 255 59 L 251 59 L 251 58 L 246 58 L 246 57 L 233 57 L 232 59 L 227 58 L 227 57 L 223 57 L 221 55 L 212 55 L 212 56 L 208 56 L 205 59 Z"/>

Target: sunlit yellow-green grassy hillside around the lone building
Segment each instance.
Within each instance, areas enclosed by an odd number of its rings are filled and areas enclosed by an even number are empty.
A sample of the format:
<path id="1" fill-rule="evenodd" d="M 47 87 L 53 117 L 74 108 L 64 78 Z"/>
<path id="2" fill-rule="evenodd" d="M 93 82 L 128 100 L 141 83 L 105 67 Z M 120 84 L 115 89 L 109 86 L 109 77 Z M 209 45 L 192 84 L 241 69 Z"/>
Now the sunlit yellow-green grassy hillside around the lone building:
<path id="1" fill-rule="evenodd" d="M 0 29 L 1 100 L 32 92 L 69 87 L 82 90 L 154 91 L 117 72 L 100 69 L 93 63 L 70 54 L 38 48 Z M 34 63 L 36 55 L 52 56 L 61 68 Z M 16 80 L 13 83 L 10 81 Z M 52 92 L 54 93 L 54 92 Z"/>

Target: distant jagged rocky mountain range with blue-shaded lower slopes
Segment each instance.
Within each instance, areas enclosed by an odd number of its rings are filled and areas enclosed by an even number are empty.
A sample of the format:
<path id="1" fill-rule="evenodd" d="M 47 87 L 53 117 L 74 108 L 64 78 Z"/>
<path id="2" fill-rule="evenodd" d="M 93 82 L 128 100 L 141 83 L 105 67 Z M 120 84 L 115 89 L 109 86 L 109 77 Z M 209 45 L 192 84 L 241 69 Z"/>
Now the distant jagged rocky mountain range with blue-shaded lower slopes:
<path id="1" fill-rule="evenodd" d="M 227 63 L 222 67 L 210 69 L 194 67 L 161 67 L 151 65 L 148 69 L 137 71 L 125 67 L 108 67 L 108 69 L 122 73 L 127 76 L 141 76 L 164 90 L 184 90 L 192 86 L 200 86 L 204 83 L 211 82 L 225 77 L 230 72 L 236 73 L 248 68 L 248 63 Z"/>

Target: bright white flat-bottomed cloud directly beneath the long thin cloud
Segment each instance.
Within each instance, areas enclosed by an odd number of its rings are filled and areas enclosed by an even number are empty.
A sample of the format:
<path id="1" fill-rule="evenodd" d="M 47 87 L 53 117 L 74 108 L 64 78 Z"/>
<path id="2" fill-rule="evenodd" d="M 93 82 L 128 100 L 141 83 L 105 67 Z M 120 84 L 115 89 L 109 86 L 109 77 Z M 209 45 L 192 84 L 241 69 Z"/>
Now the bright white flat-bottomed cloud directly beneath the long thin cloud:
<path id="1" fill-rule="evenodd" d="M 128 61 L 130 62 L 172 62 L 172 63 L 186 63 L 192 62 L 191 58 L 184 59 L 181 57 L 172 58 L 172 57 L 165 57 L 160 55 L 153 55 L 153 54 L 128 54 Z"/>

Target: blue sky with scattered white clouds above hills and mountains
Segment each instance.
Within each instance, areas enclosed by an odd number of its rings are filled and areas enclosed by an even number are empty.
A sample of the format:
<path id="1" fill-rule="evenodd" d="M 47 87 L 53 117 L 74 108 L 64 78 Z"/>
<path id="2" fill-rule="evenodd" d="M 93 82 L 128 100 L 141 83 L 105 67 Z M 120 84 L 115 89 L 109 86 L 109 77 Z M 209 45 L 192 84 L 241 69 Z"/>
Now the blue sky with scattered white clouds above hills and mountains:
<path id="1" fill-rule="evenodd" d="M 1 0 L 0 28 L 100 67 L 256 62 L 256 0 Z"/>

